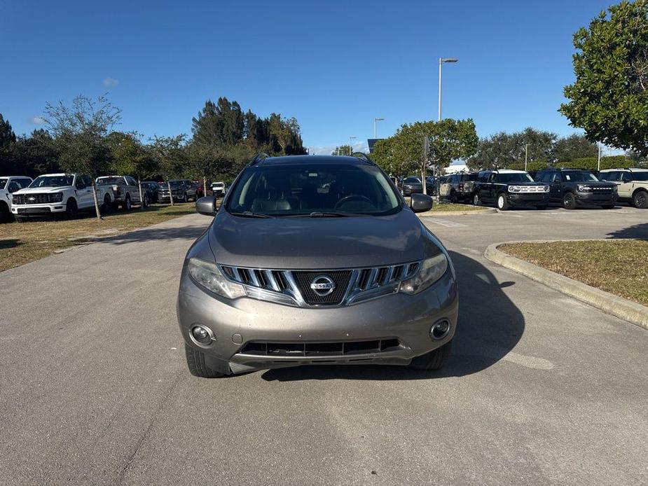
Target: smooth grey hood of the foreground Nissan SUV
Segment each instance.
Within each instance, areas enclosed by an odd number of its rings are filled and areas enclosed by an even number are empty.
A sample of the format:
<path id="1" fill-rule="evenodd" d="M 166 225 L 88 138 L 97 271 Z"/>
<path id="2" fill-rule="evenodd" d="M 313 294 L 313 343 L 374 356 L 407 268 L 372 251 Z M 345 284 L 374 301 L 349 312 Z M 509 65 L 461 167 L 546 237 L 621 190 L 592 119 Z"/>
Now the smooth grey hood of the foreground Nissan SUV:
<path id="1" fill-rule="evenodd" d="M 209 228 L 209 245 L 221 265 L 357 268 L 420 260 L 429 244 L 423 232 L 409 209 L 345 218 L 241 218 L 221 209 Z"/>

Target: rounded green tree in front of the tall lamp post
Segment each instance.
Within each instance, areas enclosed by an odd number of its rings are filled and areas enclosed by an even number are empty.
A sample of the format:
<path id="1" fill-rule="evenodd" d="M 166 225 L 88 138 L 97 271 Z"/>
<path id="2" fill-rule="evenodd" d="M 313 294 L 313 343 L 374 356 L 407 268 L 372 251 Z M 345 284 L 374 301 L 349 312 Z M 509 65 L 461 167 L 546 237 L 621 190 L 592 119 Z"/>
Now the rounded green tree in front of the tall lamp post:
<path id="1" fill-rule="evenodd" d="M 475 123 L 471 119 L 416 122 L 402 125 L 392 137 L 392 159 L 404 173 L 418 172 L 425 181 L 429 165 L 435 165 L 441 172 L 453 160 L 473 155 L 477 142 Z M 425 182 L 423 188 L 425 191 Z"/>

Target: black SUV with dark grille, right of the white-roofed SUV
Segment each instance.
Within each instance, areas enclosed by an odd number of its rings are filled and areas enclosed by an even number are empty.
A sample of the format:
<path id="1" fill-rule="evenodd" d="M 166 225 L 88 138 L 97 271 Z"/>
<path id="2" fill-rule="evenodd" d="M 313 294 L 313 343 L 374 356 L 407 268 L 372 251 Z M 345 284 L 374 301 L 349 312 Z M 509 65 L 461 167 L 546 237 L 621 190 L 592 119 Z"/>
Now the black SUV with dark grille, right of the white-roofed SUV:
<path id="1" fill-rule="evenodd" d="M 548 167 L 538 172 L 536 181 L 549 185 L 551 202 L 562 204 L 565 209 L 575 209 L 581 204 L 595 204 L 612 209 L 619 197 L 614 182 L 599 181 L 584 169 L 559 169 Z"/>

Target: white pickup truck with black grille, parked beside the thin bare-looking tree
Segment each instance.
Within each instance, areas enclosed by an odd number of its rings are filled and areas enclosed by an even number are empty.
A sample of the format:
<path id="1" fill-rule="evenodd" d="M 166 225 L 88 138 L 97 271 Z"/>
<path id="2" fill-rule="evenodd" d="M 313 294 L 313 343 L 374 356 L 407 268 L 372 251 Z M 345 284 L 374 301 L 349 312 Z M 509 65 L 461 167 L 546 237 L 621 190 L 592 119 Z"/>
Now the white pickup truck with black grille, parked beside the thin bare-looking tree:
<path id="1" fill-rule="evenodd" d="M 109 192 L 110 191 L 110 192 Z M 103 204 L 111 189 L 97 186 L 97 200 Z M 92 178 L 83 174 L 43 174 L 28 188 L 13 193 L 11 214 L 16 221 L 30 216 L 65 215 L 74 218 L 78 211 L 95 207 Z"/>

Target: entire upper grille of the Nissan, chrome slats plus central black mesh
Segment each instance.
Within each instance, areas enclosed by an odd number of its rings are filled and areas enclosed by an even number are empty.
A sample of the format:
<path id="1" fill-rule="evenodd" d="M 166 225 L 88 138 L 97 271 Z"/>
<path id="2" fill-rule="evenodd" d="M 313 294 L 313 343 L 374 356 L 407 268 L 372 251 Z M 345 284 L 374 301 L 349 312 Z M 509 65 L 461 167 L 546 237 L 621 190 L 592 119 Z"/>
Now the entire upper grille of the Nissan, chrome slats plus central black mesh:
<path id="1" fill-rule="evenodd" d="M 418 272 L 420 262 L 384 267 L 336 270 L 266 270 L 222 265 L 221 271 L 232 282 L 242 284 L 250 298 L 268 302 L 312 307 L 351 305 L 371 298 L 396 293 L 402 281 Z M 318 277 L 326 277 L 319 279 Z M 334 284 L 331 293 L 312 289 L 312 284 Z"/>

